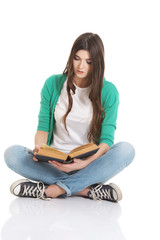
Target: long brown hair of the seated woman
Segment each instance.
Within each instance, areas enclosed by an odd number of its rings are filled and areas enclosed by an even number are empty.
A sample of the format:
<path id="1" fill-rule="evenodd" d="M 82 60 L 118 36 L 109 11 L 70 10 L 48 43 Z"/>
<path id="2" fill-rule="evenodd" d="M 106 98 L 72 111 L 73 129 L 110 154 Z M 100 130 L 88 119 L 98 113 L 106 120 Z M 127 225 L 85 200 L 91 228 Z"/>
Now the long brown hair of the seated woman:
<path id="1" fill-rule="evenodd" d="M 101 133 L 101 124 L 104 119 L 105 112 L 101 105 L 101 91 L 104 78 L 104 46 L 101 38 L 94 33 L 84 33 L 80 35 L 74 42 L 66 68 L 63 71 L 63 74 L 67 75 L 67 93 L 69 99 L 68 110 L 63 117 L 63 122 L 66 127 L 66 118 L 69 112 L 71 111 L 73 99 L 70 94 L 70 90 L 75 94 L 76 87 L 73 84 L 74 69 L 73 69 L 73 59 L 75 54 L 79 50 L 87 50 L 90 53 L 92 60 L 92 88 L 89 94 L 89 98 L 93 106 L 93 118 L 90 126 L 90 131 L 88 133 L 88 141 L 93 141 L 98 144 L 98 139 Z"/>

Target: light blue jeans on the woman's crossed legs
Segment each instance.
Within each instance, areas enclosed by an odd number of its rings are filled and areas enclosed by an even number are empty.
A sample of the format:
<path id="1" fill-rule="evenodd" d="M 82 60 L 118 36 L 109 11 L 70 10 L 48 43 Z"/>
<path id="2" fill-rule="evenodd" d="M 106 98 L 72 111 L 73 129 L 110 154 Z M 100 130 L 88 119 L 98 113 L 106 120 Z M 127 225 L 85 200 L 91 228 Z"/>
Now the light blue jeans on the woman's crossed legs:
<path id="1" fill-rule="evenodd" d="M 57 184 L 66 191 L 67 196 L 75 195 L 92 184 L 108 181 L 128 166 L 134 156 L 135 150 L 131 144 L 119 142 L 87 167 L 65 173 L 49 163 L 33 161 L 31 151 L 23 146 L 11 146 L 4 153 L 7 166 L 14 172 L 47 185 Z"/>

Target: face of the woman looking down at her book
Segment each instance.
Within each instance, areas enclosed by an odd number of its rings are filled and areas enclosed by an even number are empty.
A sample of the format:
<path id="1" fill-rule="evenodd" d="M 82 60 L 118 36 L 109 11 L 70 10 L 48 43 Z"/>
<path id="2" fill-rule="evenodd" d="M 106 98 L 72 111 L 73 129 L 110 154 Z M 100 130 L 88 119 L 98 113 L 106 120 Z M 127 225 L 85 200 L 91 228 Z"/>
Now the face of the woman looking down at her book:
<path id="1" fill-rule="evenodd" d="M 92 72 L 92 60 L 87 50 L 79 50 L 73 59 L 74 77 L 77 79 L 87 79 Z"/>

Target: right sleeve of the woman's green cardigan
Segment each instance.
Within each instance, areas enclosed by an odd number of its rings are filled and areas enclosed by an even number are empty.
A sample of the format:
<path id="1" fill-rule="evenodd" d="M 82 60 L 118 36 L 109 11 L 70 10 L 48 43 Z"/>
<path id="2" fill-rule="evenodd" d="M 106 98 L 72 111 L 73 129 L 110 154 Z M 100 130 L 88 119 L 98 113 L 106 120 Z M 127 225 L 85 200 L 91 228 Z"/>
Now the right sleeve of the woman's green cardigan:
<path id="1" fill-rule="evenodd" d="M 100 143 L 106 143 L 111 147 L 114 143 L 114 133 L 116 130 L 116 120 L 119 106 L 119 93 L 117 88 L 110 83 L 103 91 L 103 109 L 105 117 L 101 126 L 101 134 L 99 138 Z"/>

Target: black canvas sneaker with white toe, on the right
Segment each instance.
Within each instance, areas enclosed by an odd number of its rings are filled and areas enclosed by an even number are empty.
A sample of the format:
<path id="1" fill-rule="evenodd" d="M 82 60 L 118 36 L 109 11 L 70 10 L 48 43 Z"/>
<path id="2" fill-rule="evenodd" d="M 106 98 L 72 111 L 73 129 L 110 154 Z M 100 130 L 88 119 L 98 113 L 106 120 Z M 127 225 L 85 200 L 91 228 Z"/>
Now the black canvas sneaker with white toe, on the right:
<path id="1" fill-rule="evenodd" d="M 122 199 L 122 192 L 114 183 L 108 185 L 93 184 L 90 186 L 88 197 L 94 200 L 118 202 Z"/>

